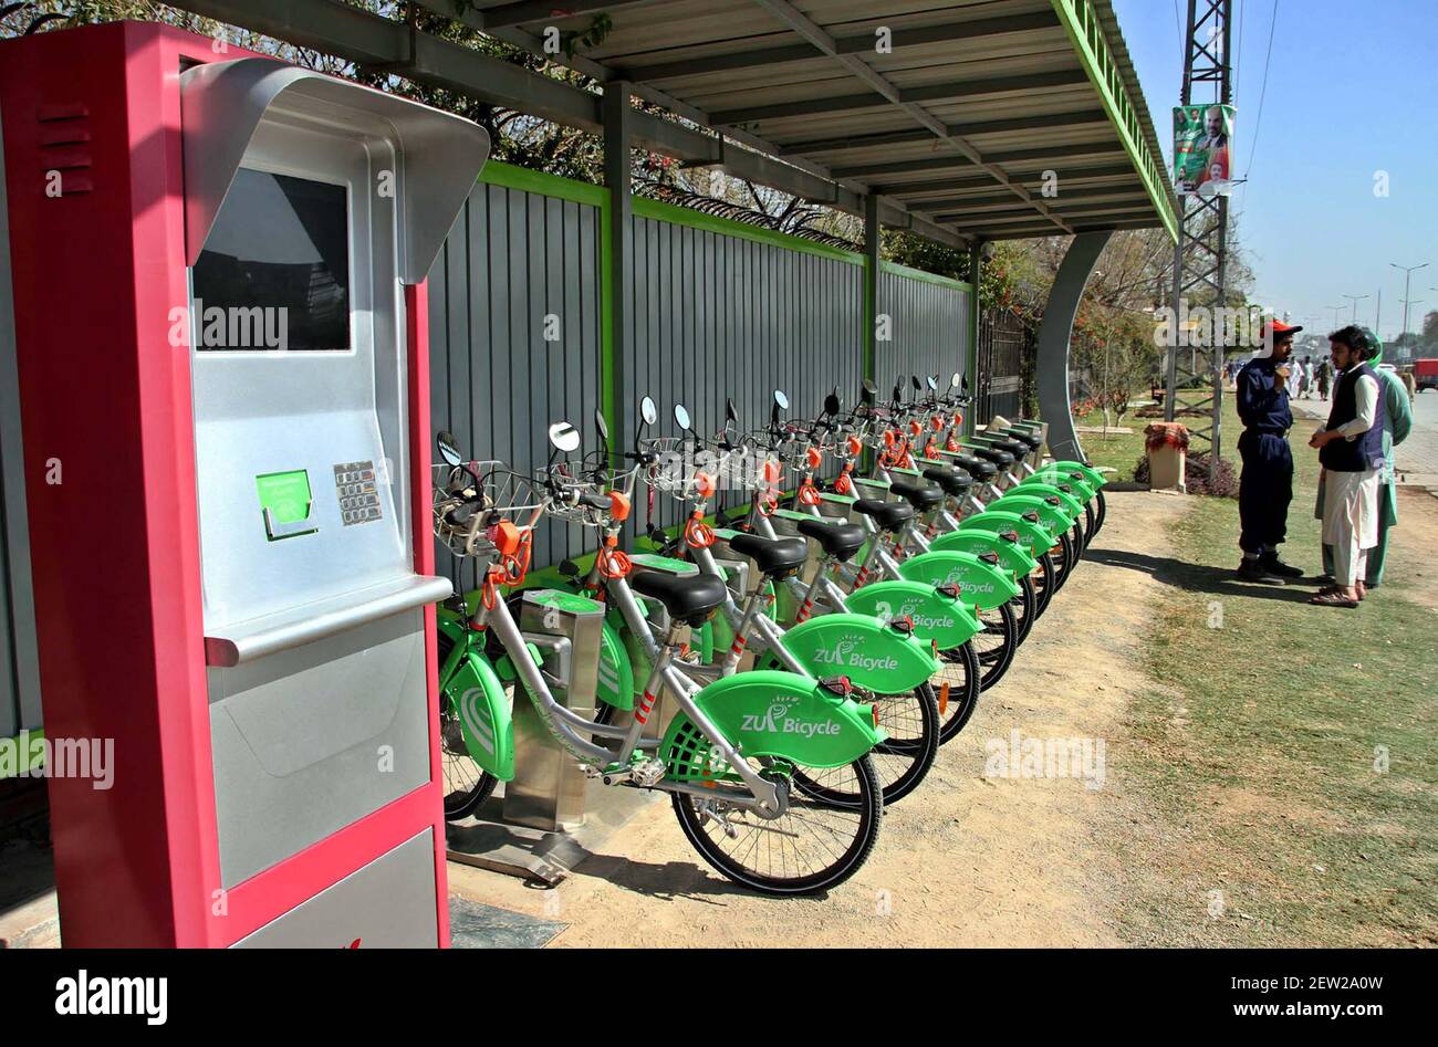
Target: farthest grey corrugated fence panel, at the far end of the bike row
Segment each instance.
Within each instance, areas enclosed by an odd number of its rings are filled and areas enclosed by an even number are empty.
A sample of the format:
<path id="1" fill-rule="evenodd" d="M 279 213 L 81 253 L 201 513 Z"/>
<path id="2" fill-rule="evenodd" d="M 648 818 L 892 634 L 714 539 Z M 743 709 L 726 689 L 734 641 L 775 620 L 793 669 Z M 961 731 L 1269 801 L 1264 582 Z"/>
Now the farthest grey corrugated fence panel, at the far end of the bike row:
<path id="1" fill-rule="evenodd" d="M 880 315 L 890 319 L 890 341 L 880 341 L 874 381 L 881 397 L 903 375 L 938 374 L 940 385 L 955 371 L 963 374 L 972 338 L 972 296 L 968 291 L 906 276 L 887 266 L 879 273 Z M 969 375 L 969 381 L 974 377 Z"/>

